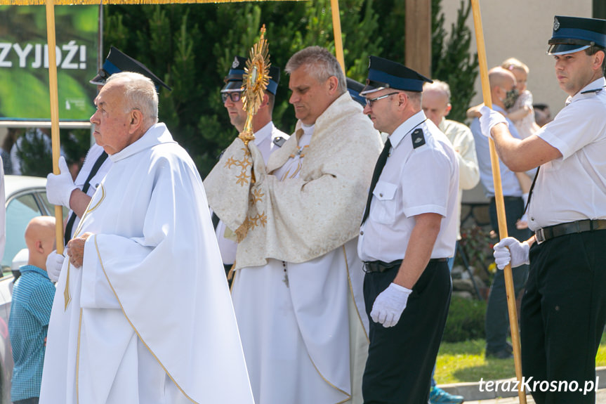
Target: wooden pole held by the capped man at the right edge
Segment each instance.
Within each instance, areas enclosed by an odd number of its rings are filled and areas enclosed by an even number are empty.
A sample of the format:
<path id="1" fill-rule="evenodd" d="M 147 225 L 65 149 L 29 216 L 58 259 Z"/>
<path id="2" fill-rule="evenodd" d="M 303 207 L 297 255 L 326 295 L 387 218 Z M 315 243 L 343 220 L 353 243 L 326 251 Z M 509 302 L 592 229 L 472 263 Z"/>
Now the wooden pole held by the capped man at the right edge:
<path id="1" fill-rule="evenodd" d="M 490 96 L 490 85 L 488 82 L 488 67 L 486 62 L 486 47 L 484 44 L 484 32 L 482 30 L 482 15 L 480 15 L 480 0 L 471 0 L 473 9 L 473 25 L 475 26 L 475 41 L 477 42 L 477 60 L 480 63 L 480 79 L 482 81 L 482 95 L 484 104 L 492 108 Z M 490 162 L 492 164 L 492 181 L 494 182 L 494 202 L 496 203 L 496 216 L 499 219 L 499 235 L 501 240 L 507 237 L 507 221 L 505 218 L 505 203 L 503 202 L 503 188 L 501 186 L 501 169 L 499 168 L 499 156 L 496 155 L 494 141 L 488 139 L 490 148 Z M 520 332 L 518 331 L 518 309 L 515 305 L 515 288 L 513 287 L 513 276 L 511 264 L 503 270 L 505 275 L 505 290 L 507 294 L 507 308 L 509 311 L 509 327 L 511 329 L 511 342 L 513 345 L 513 360 L 515 362 L 515 377 L 520 381 L 518 398 L 520 403 L 526 404 L 526 393 L 522 386 L 522 358 L 520 354 Z"/>

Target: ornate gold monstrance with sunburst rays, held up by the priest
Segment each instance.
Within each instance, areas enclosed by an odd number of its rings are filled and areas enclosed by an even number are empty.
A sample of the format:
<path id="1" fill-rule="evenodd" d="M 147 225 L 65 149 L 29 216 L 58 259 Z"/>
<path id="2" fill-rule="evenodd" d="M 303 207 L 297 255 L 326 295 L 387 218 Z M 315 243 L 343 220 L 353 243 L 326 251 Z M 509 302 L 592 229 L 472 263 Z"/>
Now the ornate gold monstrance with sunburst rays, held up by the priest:
<path id="1" fill-rule="evenodd" d="M 242 93 L 244 97 L 244 110 L 246 110 L 246 123 L 244 130 L 238 135 L 244 141 L 245 145 L 249 141 L 253 141 L 255 135 L 253 133 L 253 116 L 263 103 L 263 95 L 265 89 L 270 82 L 270 63 L 268 54 L 268 42 L 265 41 L 265 24 L 261 27 L 261 38 L 251 48 L 251 55 L 246 60 L 244 67 L 244 77 L 242 81 Z"/>

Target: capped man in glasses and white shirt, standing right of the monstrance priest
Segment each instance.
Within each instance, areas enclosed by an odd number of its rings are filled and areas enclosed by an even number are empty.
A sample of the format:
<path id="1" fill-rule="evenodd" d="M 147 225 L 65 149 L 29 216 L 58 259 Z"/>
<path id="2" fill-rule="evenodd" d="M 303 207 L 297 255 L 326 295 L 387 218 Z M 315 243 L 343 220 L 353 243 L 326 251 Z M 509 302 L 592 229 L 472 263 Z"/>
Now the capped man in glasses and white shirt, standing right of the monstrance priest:
<path id="1" fill-rule="evenodd" d="M 370 57 L 364 113 L 389 134 L 372 176 L 357 250 L 370 325 L 364 403 L 427 403 L 452 290 L 459 164 L 421 110 L 430 79 Z"/>

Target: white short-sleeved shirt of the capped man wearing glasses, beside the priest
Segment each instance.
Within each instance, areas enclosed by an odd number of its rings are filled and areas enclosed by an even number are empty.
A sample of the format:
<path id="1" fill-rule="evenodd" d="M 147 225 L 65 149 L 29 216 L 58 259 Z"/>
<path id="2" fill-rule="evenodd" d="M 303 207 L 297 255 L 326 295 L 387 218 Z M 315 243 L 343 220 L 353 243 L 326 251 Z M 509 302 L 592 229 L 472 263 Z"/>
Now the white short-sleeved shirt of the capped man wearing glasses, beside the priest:
<path id="1" fill-rule="evenodd" d="M 413 147 L 414 129 L 425 144 Z M 454 254 L 459 163 L 448 138 L 426 118 L 413 115 L 390 135 L 392 145 L 373 191 L 368 219 L 360 228 L 357 251 L 362 261 L 404 259 L 414 228 L 414 216 L 443 216 L 431 258 Z"/>

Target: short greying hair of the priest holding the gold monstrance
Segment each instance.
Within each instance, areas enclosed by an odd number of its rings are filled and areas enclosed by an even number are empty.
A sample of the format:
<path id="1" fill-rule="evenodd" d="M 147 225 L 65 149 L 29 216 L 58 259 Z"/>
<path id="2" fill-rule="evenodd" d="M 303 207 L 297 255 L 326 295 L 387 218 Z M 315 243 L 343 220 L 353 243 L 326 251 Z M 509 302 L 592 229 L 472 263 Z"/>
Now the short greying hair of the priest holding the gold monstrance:
<path id="1" fill-rule="evenodd" d="M 341 95 L 347 91 L 345 74 L 338 60 L 332 53 L 320 46 L 309 46 L 295 53 L 286 63 L 286 73 L 291 74 L 299 67 L 305 67 L 305 71 L 311 74 L 318 82 L 326 82 L 329 77 L 334 76 L 338 80 L 337 91 Z"/>

